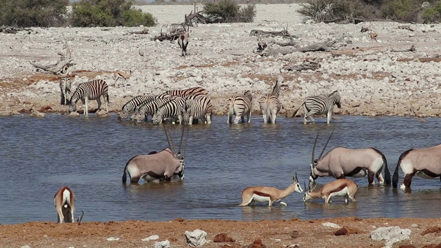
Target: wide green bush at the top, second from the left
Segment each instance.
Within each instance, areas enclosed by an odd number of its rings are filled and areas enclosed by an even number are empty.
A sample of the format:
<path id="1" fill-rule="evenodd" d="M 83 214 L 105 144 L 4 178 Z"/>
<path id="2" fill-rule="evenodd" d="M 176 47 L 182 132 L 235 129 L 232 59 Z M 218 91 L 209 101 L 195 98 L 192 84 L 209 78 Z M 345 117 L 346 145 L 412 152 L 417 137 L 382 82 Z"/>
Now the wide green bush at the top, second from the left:
<path id="1" fill-rule="evenodd" d="M 81 0 L 72 5 L 71 23 L 76 27 L 133 27 L 156 24 L 150 13 L 132 9 L 132 2 L 125 0 Z"/>

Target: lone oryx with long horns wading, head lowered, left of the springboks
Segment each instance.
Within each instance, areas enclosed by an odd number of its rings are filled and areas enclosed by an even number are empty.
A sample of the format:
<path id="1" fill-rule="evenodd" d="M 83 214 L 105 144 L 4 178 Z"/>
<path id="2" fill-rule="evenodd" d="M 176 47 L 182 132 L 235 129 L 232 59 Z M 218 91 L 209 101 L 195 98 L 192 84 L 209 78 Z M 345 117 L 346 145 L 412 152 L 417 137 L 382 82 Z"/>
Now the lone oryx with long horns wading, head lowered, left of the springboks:
<path id="1" fill-rule="evenodd" d="M 130 158 L 124 168 L 123 183 L 127 181 L 126 174 L 129 174 L 130 176 L 130 183 L 138 183 L 141 178 L 143 178 L 146 182 L 152 180 L 170 181 L 172 176 L 175 174 L 178 175 L 179 180 L 184 180 L 184 158 L 185 150 L 187 148 L 189 129 L 187 128 L 187 134 L 185 135 L 183 156 L 181 156 L 181 148 L 185 133 L 184 127 L 182 129 L 179 151 L 176 151 L 172 133 L 167 129 L 167 127 L 165 127 L 165 125 L 164 130 L 169 147 L 160 152 L 150 152 L 147 155 L 137 155 Z"/>

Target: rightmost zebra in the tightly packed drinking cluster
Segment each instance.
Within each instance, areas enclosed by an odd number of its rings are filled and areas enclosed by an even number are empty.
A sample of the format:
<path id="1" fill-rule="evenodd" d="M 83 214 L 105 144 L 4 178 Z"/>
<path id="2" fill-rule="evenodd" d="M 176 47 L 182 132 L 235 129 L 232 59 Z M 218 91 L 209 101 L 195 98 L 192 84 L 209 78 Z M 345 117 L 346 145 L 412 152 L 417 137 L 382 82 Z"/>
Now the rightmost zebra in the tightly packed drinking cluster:
<path id="1" fill-rule="evenodd" d="M 203 123 L 212 123 L 213 104 L 212 100 L 208 96 L 198 96 L 196 99 L 187 99 L 185 101 L 185 107 L 181 110 L 181 118 L 184 123 L 187 122 L 184 114 L 188 113 L 188 123 L 193 124 L 193 119 L 201 119 Z M 178 116 L 179 118 L 179 116 Z"/>

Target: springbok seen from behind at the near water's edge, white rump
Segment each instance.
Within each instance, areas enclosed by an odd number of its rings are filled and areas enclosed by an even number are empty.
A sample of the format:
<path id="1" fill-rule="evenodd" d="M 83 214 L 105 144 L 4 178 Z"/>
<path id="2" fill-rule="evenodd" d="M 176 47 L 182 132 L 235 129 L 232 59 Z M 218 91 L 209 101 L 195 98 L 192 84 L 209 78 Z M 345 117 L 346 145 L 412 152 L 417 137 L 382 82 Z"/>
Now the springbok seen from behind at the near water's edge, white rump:
<path id="1" fill-rule="evenodd" d="M 75 195 L 69 187 L 61 187 L 54 196 L 54 205 L 58 213 L 58 223 L 74 223 Z M 84 211 L 76 222 L 81 222 Z"/>

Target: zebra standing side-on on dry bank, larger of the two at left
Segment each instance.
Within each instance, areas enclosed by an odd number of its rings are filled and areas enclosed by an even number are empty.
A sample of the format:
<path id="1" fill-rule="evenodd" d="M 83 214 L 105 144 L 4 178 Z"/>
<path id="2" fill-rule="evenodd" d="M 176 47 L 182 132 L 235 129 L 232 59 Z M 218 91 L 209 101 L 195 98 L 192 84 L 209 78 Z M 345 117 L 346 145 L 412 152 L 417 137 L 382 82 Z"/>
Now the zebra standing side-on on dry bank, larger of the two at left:
<path id="1" fill-rule="evenodd" d="M 72 97 L 70 97 L 69 112 L 76 112 L 76 102 L 80 99 L 83 103 L 85 116 L 88 116 L 89 100 L 96 100 L 98 102 L 98 110 L 101 110 L 101 96 L 103 96 L 104 99 L 105 111 L 108 112 L 107 104 L 109 103 L 109 94 L 107 91 L 107 83 L 101 79 L 80 83 L 74 94 L 72 94 Z"/>

